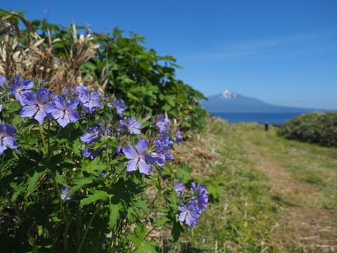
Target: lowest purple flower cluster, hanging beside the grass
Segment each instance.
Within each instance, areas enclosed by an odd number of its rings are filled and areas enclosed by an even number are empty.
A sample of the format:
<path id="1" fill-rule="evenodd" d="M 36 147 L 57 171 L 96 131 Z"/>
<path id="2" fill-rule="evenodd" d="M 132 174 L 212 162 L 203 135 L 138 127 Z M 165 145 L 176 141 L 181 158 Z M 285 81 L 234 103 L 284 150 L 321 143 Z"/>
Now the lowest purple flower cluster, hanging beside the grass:
<path id="1" fill-rule="evenodd" d="M 178 220 L 184 222 L 194 229 L 194 225 L 197 223 L 201 212 L 207 208 L 207 202 L 209 201 L 209 193 L 207 192 L 207 188 L 199 183 L 197 186 L 195 183 L 191 183 L 192 188 L 191 192 L 192 197 L 188 197 L 185 199 L 186 205 L 180 204 L 178 206 L 178 210 L 180 211 Z M 176 182 L 173 189 L 176 190 L 178 197 L 186 197 L 184 191 L 186 190 L 186 186 L 183 183 Z"/>

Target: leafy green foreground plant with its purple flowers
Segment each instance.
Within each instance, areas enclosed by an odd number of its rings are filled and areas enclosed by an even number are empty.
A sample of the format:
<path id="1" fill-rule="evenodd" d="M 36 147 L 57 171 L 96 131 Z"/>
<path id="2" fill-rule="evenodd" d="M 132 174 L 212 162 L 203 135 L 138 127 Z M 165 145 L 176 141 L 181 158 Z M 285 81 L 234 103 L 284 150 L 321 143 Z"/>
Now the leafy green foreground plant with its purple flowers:
<path id="1" fill-rule="evenodd" d="M 122 117 L 116 96 L 47 87 L 0 77 L 2 252 L 174 248 L 208 201 L 203 185 L 162 177 L 180 132 L 165 115 Z M 171 237 L 150 240 L 163 226 Z"/>

